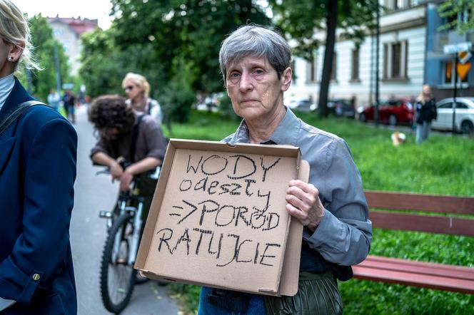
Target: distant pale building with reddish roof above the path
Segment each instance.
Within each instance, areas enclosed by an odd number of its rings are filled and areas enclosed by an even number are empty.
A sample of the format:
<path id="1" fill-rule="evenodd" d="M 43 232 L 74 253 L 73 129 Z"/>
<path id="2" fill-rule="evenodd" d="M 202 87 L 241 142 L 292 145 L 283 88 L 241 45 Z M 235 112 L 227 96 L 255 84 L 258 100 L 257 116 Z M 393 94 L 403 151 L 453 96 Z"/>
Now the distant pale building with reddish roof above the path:
<path id="1" fill-rule="evenodd" d="M 96 19 L 75 18 L 48 18 L 49 26 L 53 29 L 53 36 L 64 47 L 66 56 L 69 57 L 71 65 L 71 74 L 76 76 L 81 63 L 81 35 L 83 33 L 94 31 L 98 26 Z"/>

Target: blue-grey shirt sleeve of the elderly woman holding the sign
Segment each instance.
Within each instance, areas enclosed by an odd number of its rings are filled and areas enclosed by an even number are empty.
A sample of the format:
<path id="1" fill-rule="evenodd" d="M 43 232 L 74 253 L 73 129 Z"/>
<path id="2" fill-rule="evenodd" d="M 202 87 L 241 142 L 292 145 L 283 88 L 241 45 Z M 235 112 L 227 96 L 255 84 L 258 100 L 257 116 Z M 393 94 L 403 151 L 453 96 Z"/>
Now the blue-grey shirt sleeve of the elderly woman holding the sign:
<path id="1" fill-rule="evenodd" d="M 312 235 L 304 237 L 309 246 L 335 264 L 350 266 L 367 257 L 372 241 L 372 223 L 360 173 L 346 142 L 333 140 L 323 161 L 325 207 L 323 220 Z M 321 189 L 320 189 L 321 192 Z"/>

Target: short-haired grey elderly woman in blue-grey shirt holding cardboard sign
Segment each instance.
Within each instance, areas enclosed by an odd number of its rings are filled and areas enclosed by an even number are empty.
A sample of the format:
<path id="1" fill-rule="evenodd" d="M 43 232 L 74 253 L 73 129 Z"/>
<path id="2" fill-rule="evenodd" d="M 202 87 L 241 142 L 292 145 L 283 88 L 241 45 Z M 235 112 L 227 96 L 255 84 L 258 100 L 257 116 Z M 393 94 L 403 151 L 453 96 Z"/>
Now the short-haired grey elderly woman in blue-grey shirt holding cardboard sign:
<path id="1" fill-rule="evenodd" d="M 199 314 L 341 314 L 337 279 L 368 254 L 372 227 L 360 174 L 344 140 L 298 119 L 283 105 L 291 48 L 275 31 L 243 26 L 222 43 L 219 61 L 233 110 L 243 118 L 223 141 L 294 145 L 310 163 L 309 183 L 288 182 L 286 210 L 304 226 L 296 296 L 201 289 Z"/>

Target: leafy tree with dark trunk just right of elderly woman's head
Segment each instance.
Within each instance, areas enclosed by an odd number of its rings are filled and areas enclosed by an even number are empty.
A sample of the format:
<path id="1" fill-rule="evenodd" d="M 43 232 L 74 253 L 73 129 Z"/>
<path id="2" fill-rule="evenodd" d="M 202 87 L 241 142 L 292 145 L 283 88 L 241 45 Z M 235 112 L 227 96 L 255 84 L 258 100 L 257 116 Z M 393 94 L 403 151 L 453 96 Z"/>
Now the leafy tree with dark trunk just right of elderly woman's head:
<path id="1" fill-rule="evenodd" d="M 377 0 L 269 0 L 276 24 L 288 38 L 296 41 L 297 56 L 311 60 L 321 46 L 317 32 L 326 32 L 323 75 L 319 90 L 318 111 L 328 115 L 328 89 L 331 81 L 336 29 L 339 38 L 362 41 L 368 30 L 375 26 Z"/>

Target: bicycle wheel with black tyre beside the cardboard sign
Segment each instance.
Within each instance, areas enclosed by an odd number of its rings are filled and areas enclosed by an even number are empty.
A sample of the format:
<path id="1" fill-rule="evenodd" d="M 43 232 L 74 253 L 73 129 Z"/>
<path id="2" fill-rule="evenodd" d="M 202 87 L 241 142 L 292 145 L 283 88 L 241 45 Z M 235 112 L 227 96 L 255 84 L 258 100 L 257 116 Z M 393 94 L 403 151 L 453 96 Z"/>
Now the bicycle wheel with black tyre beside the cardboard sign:
<path id="1" fill-rule="evenodd" d="M 135 286 L 136 270 L 128 265 L 128 252 L 133 232 L 131 219 L 132 216 L 126 213 L 115 220 L 102 253 L 102 301 L 105 308 L 115 314 L 119 314 L 126 308 Z M 115 242 L 119 242 L 119 245 L 114 250 Z"/>

